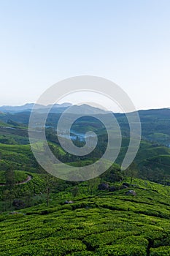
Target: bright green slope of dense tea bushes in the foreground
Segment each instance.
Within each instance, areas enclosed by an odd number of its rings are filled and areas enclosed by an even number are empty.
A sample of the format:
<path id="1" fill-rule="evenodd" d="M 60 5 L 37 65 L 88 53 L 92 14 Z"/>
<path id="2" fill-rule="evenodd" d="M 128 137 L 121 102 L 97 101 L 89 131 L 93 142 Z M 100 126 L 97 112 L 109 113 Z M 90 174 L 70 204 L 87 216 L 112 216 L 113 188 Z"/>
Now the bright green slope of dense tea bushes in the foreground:
<path id="1" fill-rule="evenodd" d="M 1 214 L 0 255 L 169 255 L 170 188 L 134 182 L 136 197 L 100 192 Z"/>

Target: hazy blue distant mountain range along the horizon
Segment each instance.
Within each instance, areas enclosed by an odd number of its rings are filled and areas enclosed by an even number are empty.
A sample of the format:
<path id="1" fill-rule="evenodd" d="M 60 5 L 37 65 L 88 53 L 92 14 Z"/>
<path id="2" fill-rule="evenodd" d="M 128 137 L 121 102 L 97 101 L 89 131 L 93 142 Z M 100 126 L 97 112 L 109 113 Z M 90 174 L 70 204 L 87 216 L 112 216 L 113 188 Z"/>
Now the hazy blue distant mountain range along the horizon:
<path id="1" fill-rule="evenodd" d="M 69 110 L 69 107 L 72 108 Z M 28 126 L 31 110 L 34 107 L 34 103 L 26 104 L 23 106 L 2 106 L 0 107 L 0 123 L 6 124 L 18 123 L 20 125 Z M 74 128 L 77 132 L 84 132 L 86 127 L 96 127 L 95 129 L 101 134 L 103 128 L 99 126 L 98 121 L 92 118 L 93 115 L 102 115 L 104 120 L 109 122 L 110 116 L 108 111 L 94 108 L 90 105 L 72 105 L 70 103 L 63 103 L 61 105 L 36 105 L 36 110 L 39 113 L 39 117 L 44 113 L 48 113 L 47 127 L 56 127 L 58 120 L 65 110 L 69 110 L 70 118 L 72 114 L 82 115 L 82 118 L 78 118 Z M 144 140 L 150 140 L 152 143 L 159 143 L 164 146 L 170 147 L 170 109 L 151 109 L 151 110 L 139 110 L 139 117 L 142 125 L 142 138 Z M 133 115 L 133 113 L 131 113 Z M 114 113 L 118 124 L 120 125 L 121 132 L 124 136 L 129 136 L 129 125 L 125 113 Z M 84 116 L 84 117 L 83 117 Z M 7 126 L 7 125 L 5 125 Z M 100 127 L 100 128 L 99 128 Z"/>

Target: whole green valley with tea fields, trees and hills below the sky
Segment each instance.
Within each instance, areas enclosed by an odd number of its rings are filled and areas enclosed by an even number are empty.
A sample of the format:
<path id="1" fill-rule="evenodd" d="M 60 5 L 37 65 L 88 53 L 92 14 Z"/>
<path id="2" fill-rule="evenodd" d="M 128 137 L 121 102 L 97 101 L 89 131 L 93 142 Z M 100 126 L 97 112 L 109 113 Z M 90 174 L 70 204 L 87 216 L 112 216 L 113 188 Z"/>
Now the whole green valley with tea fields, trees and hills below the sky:
<path id="1" fill-rule="evenodd" d="M 125 116 L 115 114 L 123 136 L 120 154 L 106 173 L 82 182 L 63 181 L 39 166 L 29 143 L 28 111 L 0 114 L 0 255 L 170 254 L 169 109 L 139 114 L 142 140 L 134 165 L 120 170 L 129 129 Z M 55 157 L 76 167 L 96 162 L 107 146 L 104 125 L 89 116 L 73 124 L 76 146 L 85 145 L 85 132 L 98 135 L 93 152 L 74 156 L 56 136 L 60 115 L 47 118 L 46 138 Z M 43 150 L 43 143 L 34 146 Z"/>

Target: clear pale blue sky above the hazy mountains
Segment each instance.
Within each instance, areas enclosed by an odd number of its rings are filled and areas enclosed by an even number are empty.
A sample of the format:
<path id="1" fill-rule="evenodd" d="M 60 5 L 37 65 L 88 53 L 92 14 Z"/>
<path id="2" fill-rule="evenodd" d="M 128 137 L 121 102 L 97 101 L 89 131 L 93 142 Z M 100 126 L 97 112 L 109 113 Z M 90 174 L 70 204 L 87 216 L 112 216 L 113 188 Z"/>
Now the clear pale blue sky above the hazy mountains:
<path id="1" fill-rule="evenodd" d="M 138 110 L 170 108 L 170 1 L 0 0 L 0 105 L 77 75 L 112 80 Z"/>

